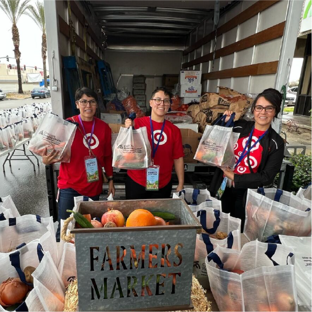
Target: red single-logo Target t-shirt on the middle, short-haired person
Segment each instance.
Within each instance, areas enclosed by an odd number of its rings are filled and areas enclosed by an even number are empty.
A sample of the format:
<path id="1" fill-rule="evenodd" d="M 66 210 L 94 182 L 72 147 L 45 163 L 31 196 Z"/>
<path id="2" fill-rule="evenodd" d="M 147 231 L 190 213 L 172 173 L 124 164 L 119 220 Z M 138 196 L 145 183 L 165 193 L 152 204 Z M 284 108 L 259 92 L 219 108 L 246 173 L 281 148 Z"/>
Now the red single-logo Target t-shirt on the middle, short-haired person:
<path id="1" fill-rule="evenodd" d="M 184 156 L 181 131 L 172 123 L 166 121 L 161 138 L 159 134 L 163 123 L 152 121 L 154 131 L 154 147 L 159 141 L 159 146 L 154 157 L 154 165 L 159 168 L 159 188 L 166 186 L 171 180 L 173 160 Z M 149 117 L 142 117 L 135 120 L 135 129 L 146 127 L 147 137 L 152 147 L 151 125 Z M 151 148 L 153 154 L 153 148 Z M 146 186 L 146 169 L 145 170 L 128 170 L 128 175 L 138 184 Z"/>

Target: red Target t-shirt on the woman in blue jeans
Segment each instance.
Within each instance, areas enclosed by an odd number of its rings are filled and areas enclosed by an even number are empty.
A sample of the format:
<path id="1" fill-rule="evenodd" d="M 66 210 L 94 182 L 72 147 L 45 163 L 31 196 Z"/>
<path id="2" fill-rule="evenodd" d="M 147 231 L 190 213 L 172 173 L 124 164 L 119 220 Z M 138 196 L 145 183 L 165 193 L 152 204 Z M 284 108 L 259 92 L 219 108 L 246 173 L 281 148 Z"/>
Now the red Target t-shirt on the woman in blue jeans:
<path id="1" fill-rule="evenodd" d="M 73 117 L 74 121 L 79 123 L 78 116 Z M 70 120 L 70 119 L 69 119 Z M 108 176 L 113 175 L 112 167 L 112 130 L 105 122 L 95 118 L 94 132 L 91 141 L 91 150 L 97 158 L 99 180 L 96 182 L 87 182 L 86 171 L 84 166 L 84 157 L 89 156 L 89 148 L 79 131 L 76 130 L 74 140 L 71 145 L 70 162 L 62 162 L 60 174 L 58 176 L 57 186 L 60 189 L 73 188 L 84 196 L 96 196 L 102 191 L 102 174 L 101 167 L 105 168 Z M 82 122 L 87 139 L 89 140 L 93 121 Z M 83 129 L 79 123 L 79 128 Z M 91 153 L 92 156 L 92 153 Z"/>

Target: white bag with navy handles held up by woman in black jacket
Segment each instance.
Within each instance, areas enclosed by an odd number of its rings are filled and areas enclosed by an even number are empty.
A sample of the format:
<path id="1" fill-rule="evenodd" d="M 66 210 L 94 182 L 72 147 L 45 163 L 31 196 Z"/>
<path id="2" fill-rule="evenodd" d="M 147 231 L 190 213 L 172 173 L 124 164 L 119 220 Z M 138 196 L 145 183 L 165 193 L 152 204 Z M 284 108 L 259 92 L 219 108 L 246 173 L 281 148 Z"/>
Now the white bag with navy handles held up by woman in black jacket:
<path id="1" fill-rule="evenodd" d="M 224 115 L 219 120 L 224 123 L 226 117 Z M 194 159 L 211 166 L 234 168 L 236 161 L 234 146 L 239 139 L 239 133 L 234 133 L 233 128 L 230 128 L 234 118 L 233 113 L 225 127 L 206 125 Z"/>

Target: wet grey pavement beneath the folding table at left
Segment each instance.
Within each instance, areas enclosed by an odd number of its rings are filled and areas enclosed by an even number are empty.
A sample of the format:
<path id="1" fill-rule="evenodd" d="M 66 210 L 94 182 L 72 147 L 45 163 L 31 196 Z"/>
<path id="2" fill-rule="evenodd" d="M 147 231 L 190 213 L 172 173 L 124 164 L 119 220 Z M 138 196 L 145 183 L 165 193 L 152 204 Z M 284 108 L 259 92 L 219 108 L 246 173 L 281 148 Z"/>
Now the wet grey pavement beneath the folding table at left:
<path id="1" fill-rule="evenodd" d="M 26 153 L 30 152 L 26 149 Z M 22 155 L 23 152 L 16 151 L 15 155 Z M 0 158 L 0 197 L 11 195 L 20 212 L 20 215 L 38 214 L 41 217 L 49 217 L 49 206 L 47 197 L 47 183 L 45 166 L 39 159 L 39 167 L 35 157 L 31 156 L 35 163 L 36 171 L 29 160 L 9 161 L 5 164 L 6 172 L 3 172 L 3 163 L 6 156 Z"/>

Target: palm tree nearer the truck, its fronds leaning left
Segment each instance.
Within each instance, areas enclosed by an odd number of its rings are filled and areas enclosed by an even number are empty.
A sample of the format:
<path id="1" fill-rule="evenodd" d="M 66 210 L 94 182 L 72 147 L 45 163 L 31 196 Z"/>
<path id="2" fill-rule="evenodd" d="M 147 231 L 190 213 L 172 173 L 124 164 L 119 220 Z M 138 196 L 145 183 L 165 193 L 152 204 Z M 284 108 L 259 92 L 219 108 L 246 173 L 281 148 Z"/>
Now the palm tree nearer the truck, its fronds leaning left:
<path id="1" fill-rule="evenodd" d="M 46 22 L 44 18 L 44 6 L 43 3 L 40 1 L 36 2 L 36 7 L 32 5 L 27 7 L 27 11 L 25 12 L 26 15 L 31 17 L 37 26 L 42 31 L 42 42 L 41 42 L 41 56 L 43 62 L 43 78 L 44 78 L 44 86 L 47 87 L 47 66 L 46 66 L 46 59 L 47 59 L 47 36 L 46 36 Z"/>

